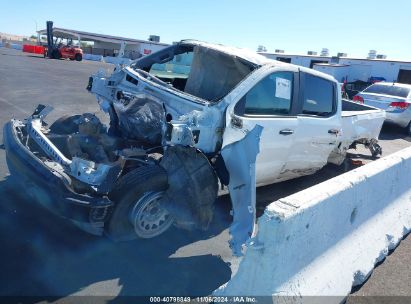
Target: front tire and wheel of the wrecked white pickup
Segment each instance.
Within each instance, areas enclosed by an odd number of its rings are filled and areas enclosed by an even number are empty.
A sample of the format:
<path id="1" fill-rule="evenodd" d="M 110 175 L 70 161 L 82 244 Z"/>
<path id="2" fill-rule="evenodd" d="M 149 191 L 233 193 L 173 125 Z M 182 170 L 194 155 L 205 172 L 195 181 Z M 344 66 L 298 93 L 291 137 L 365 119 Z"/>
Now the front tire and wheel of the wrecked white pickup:
<path id="1" fill-rule="evenodd" d="M 160 166 L 142 166 L 121 177 L 109 194 L 115 206 L 106 235 L 114 241 L 129 241 L 168 230 L 174 218 L 158 205 L 167 188 L 167 173 Z"/>

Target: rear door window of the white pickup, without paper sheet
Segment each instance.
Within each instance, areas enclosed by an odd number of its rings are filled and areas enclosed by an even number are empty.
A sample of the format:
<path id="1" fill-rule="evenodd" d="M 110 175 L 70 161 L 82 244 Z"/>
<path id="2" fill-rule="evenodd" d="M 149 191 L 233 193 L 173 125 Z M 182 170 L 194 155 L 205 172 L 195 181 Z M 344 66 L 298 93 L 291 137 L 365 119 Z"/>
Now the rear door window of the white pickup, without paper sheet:
<path id="1" fill-rule="evenodd" d="M 302 114 L 328 117 L 336 111 L 335 85 L 332 81 L 302 73 L 304 89 Z"/>

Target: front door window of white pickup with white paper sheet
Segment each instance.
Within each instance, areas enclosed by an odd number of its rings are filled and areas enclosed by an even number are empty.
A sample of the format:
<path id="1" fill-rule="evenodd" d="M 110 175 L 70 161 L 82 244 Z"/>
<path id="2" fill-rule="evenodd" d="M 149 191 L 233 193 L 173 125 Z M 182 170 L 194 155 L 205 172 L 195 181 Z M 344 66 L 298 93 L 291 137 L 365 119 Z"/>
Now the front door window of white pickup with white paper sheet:
<path id="1" fill-rule="evenodd" d="M 258 82 L 239 101 L 244 115 L 287 115 L 293 97 L 293 73 L 275 72 Z"/>

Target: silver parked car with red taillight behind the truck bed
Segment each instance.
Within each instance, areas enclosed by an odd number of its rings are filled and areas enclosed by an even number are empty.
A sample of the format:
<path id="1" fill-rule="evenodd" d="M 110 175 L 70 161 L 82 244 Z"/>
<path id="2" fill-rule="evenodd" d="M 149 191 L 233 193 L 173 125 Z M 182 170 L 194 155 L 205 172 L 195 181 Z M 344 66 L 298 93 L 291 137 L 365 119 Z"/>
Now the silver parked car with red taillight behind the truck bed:
<path id="1" fill-rule="evenodd" d="M 355 95 L 353 100 L 385 110 L 386 122 L 406 128 L 411 135 L 410 84 L 378 82 Z"/>

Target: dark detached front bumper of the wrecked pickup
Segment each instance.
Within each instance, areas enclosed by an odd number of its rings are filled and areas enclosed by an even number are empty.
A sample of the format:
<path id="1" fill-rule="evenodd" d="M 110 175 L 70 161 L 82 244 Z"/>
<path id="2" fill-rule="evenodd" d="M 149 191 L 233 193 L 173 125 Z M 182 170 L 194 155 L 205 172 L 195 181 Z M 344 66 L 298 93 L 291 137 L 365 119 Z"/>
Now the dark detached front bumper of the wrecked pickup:
<path id="1" fill-rule="evenodd" d="M 48 168 L 20 142 L 17 124 L 18 121 L 12 120 L 3 128 L 7 166 L 12 178 L 42 206 L 89 233 L 101 235 L 113 202 L 107 197 L 73 192 L 67 185 L 67 178 Z"/>

